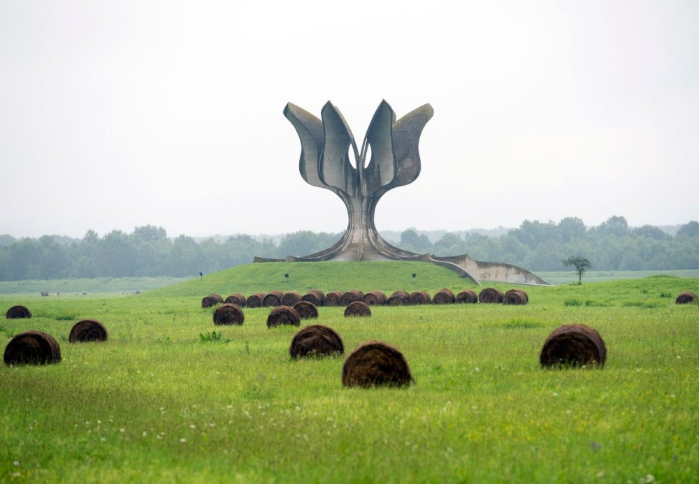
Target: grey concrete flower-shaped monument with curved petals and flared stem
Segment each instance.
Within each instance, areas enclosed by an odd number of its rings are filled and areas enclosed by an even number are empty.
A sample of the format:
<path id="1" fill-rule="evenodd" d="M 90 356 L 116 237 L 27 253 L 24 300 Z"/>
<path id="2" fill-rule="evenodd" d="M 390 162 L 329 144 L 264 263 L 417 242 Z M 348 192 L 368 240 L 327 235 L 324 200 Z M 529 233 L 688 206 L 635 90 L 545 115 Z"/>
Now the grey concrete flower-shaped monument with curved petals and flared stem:
<path id="1" fill-rule="evenodd" d="M 396 121 L 396 113 L 382 101 L 371 119 L 361 149 L 345 118 L 328 102 L 318 119 L 288 103 L 284 116 L 301 140 L 299 171 L 306 182 L 336 193 L 347 207 L 349 223 L 340 241 L 303 261 L 377 261 L 419 258 L 391 246 L 374 226 L 378 200 L 390 189 L 415 181 L 420 173 L 418 143 L 434 111 L 422 105 Z M 350 151 L 356 166 L 350 161 Z M 370 155 L 370 156 L 369 156 Z"/>

